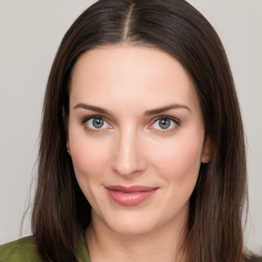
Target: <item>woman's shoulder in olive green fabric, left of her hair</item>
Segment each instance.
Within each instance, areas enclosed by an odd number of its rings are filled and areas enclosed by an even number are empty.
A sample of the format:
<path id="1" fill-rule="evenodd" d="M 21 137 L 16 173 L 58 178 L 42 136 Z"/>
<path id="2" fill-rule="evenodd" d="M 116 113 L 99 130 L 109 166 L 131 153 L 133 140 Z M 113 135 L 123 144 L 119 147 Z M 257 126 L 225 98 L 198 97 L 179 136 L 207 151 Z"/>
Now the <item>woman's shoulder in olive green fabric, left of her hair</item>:
<path id="1" fill-rule="evenodd" d="M 0 246 L 0 262 L 41 261 L 33 236 L 20 238 Z"/>

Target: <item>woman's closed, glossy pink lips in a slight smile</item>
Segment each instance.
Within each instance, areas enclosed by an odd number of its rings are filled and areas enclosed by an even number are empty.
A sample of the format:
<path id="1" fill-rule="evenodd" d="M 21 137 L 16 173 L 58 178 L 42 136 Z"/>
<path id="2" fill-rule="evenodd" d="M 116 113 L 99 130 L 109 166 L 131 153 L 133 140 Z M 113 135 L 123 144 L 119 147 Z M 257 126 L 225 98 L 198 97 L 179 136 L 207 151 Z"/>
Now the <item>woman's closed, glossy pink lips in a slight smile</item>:
<path id="1" fill-rule="evenodd" d="M 106 186 L 105 189 L 114 202 L 123 206 L 134 206 L 150 198 L 158 187 L 116 185 Z"/>

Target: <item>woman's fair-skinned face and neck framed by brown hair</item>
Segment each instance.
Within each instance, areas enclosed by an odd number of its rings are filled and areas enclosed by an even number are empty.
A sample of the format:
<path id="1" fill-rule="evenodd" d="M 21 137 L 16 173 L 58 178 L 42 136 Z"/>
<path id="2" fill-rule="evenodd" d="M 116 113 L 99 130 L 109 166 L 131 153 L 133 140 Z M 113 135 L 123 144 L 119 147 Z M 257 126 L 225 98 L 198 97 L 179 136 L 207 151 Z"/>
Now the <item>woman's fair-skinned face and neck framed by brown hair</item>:
<path id="1" fill-rule="evenodd" d="M 68 130 L 76 178 L 92 206 L 85 232 L 92 262 L 179 257 L 189 198 L 210 155 L 182 65 L 128 44 L 86 52 L 73 71 Z"/>

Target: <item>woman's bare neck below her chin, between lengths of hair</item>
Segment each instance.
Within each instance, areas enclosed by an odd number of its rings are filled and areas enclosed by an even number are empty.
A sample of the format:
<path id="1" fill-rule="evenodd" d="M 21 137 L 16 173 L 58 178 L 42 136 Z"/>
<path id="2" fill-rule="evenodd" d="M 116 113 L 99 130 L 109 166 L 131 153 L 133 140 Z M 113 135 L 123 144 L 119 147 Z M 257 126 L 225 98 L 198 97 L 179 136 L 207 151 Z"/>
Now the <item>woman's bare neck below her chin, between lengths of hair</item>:
<path id="1" fill-rule="evenodd" d="M 150 257 L 155 262 L 181 262 L 184 224 L 174 226 L 170 221 L 170 225 L 150 232 L 121 234 L 108 228 L 100 217 L 95 217 L 85 231 L 90 259 L 92 262 L 144 262 Z"/>

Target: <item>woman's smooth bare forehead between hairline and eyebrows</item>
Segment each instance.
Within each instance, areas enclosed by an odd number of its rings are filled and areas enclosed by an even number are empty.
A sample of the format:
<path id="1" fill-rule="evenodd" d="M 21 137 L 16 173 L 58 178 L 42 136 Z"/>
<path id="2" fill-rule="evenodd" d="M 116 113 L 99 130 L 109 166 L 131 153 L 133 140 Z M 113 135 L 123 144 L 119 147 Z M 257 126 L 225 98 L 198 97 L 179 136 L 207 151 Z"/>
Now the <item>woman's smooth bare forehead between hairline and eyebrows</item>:
<path id="1" fill-rule="evenodd" d="M 150 108 L 173 103 L 199 107 L 192 81 L 177 59 L 155 48 L 130 45 L 92 49 L 76 62 L 70 101 L 106 106 L 109 98 Z"/>

